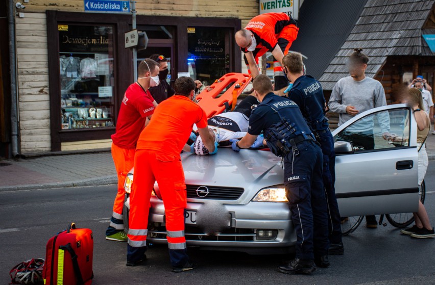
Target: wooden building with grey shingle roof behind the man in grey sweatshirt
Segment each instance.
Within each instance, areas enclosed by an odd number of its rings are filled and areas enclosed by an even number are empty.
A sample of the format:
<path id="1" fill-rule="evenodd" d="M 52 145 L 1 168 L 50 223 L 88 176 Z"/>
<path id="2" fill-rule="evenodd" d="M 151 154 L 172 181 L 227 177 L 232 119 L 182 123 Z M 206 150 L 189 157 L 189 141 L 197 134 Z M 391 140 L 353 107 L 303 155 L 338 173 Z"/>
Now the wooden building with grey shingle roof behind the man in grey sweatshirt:
<path id="1" fill-rule="evenodd" d="M 352 31 L 320 77 L 328 100 L 337 81 L 349 76 L 346 62 L 356 47 L 369 57 L 366 76 L 382 83 L 386 99 L 398 84 L 423 75 L 435 83 L 435 53 L 424 34 L 435 34 L 433 0 L 368 0 Z"/>

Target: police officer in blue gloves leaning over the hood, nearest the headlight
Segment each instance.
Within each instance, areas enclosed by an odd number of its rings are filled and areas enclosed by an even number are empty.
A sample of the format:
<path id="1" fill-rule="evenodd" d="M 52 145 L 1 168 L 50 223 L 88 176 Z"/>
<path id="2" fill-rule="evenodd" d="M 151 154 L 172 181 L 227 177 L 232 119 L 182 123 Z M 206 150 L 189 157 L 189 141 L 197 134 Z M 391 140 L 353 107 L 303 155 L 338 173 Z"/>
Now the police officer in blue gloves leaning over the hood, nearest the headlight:
<path id="1" fill-rule="evenodd" d="M 322 180 L 322 150 L 306 124 L 299 107 L 273 93 L 266 75 L 253 81 L 261 102 L 249 118 L 248 134 L 231 140 L 232 148 L 258 147 L 264 139 L 271 151 L 284 159 L 284 186 L 293 226 L 296 229 L 296 258 L 278 266 L 286 274 L 310 274 L 317 266 L 328 267 L 328 221 Z M 314 263 L 313 263 L 314 261 Z"/>

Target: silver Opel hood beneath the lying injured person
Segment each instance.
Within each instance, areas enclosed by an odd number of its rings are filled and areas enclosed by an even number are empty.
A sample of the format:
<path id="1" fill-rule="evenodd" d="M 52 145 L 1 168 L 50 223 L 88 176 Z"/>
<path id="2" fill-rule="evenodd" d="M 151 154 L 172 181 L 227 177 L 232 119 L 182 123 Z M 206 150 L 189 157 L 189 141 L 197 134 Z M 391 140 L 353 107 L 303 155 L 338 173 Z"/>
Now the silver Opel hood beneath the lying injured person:
<path id="1" fill-rule="evenodd" d="M 182 153 L 186 185 L 240 187 L 245 192 L 283 183 L 281 159 L 269 150 L 219 148 L 213 156 Z"/>

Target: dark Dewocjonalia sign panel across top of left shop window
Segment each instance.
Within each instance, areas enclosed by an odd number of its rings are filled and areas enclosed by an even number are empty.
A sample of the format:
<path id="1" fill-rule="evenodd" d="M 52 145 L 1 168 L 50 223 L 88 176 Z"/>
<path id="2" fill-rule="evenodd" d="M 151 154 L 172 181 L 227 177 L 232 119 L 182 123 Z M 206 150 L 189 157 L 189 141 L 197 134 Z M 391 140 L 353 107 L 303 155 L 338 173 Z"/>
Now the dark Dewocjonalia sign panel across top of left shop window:
<path id="1" fill-rule="evenodd" d="M 64 25 L 65 26 L 65 25 Z M 112 30 L 94 26 L 68 25 L 59 29 L 59 51 L 68 53 L 107 53 L 111 44 Z"/>

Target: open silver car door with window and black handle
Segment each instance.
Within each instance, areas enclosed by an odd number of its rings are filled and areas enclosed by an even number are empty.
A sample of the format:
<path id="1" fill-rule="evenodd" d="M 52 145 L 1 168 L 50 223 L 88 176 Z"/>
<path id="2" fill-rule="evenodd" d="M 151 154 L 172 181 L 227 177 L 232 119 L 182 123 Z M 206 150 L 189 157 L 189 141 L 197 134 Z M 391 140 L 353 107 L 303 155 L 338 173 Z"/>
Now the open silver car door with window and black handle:
<path id="1" fill-rule="evenodd" d="M 409 107 L 366 111 L 332 135 L 335 193 L 342 217 L 417 212 L 417 123 Z"/>

